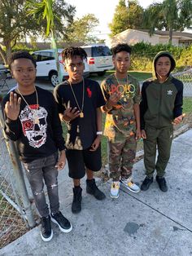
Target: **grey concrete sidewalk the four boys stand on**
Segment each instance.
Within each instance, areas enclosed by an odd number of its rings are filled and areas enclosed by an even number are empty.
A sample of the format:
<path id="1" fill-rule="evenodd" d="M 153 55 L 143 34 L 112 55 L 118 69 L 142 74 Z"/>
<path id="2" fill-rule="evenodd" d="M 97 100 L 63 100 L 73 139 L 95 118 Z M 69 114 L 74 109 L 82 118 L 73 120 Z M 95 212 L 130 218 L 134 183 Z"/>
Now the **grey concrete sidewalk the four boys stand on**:
<path id="1" fill-rule="evenodd" d="M 133 176 L 142 183 L 143 161 L 134 166 Z M 154 182 L 138 194 L 121 188 L 117 200 L 109 196 L 110 183 L 103 183 L 105 201 L 87 195 L 84 180 L 82 211 L 72 214 L 72 181 L 63 171 L 59 176 L 61 210 L 72 221 L 72 232 L 64 234 L 53 223 L 54 237 L 46 243 L 36 227 L 1 249 L 0 255 L 192 255 L 192 130 L 174 139 L 166 178 L 166 193 Z"/>

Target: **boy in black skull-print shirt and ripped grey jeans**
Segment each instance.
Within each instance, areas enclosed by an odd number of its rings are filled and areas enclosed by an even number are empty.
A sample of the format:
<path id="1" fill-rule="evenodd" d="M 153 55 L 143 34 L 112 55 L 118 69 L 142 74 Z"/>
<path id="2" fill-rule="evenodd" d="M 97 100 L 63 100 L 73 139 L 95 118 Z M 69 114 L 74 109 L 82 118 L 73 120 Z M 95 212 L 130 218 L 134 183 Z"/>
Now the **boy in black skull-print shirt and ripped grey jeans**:
<path id="1" fill-rule="evenodd" d="M 5 132 L 16 142 L 20 160 L 31 185 L 41 216 L 41 238 L 50 241 L 53 231 L 50 218 L 62 232 L 72 224 L 59 211 L 58 170 L 65 165 L 65 142 L 53 95 L 35 86 L 36 62 L 27 51 L 11 55 L 11 74 L 17 86 L 3 99 Z M 59 155 L 58 155 L 59 150 Z M 43 192 L 46 183 L 50 210 Z"/>

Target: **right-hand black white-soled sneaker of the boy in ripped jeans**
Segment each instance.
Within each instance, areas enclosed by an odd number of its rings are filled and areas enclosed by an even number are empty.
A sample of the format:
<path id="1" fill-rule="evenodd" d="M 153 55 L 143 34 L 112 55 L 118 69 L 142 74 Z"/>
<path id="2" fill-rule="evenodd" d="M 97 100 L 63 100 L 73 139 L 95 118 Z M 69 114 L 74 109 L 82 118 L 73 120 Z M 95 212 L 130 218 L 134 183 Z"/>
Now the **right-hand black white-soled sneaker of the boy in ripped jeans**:
<path id="1" fill-rule="evenodd" d="M 60 231 L 68 233 L 72 231 L 72 224 L 59 211 L 57 214 L 50 214 L 51 221 L 59 226 Z"/>

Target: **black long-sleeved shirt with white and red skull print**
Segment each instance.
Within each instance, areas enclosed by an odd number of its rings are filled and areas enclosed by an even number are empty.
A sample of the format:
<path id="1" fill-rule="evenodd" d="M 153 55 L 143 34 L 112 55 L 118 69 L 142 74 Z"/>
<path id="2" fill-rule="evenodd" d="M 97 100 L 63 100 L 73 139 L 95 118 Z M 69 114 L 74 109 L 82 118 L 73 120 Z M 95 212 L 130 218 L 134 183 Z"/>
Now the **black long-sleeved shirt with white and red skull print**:
<path id="1" fill-rule="evenodd" d="M 20 159 L 24 162 L 49 157 L 58 149 L 61 151 L 65 148 L 54 96 L 48 90 L 37 86 L 36 89 L 37 96 L 35 92 L 31 95 L 24 95 L 26 102 L 24 99 L 21 100 L 17 120 L 11 121 L 6 117 L 5 121 L 7 137 L 16 141 Z M 20 97 L 17 90 L 13 92 Z M 9 99 L 8 94 L 2 101 L 3 107 Z"/>

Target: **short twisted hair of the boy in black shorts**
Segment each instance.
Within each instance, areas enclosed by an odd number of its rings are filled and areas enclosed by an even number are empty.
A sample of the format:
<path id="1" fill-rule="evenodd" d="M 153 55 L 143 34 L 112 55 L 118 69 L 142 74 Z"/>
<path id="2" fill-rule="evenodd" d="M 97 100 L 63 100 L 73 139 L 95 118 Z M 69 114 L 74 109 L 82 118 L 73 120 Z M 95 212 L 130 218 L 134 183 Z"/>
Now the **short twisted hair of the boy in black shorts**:
<path id="1" fill-rule="evenodd" d="M 74 56 L 80 56 L 81 60 L 87 60 L 87 54 L 85 50 L 81 47 L 68 47 L 65 48 L 62 53 L 62 60 L 65 62 L 65 60 L 72 59 Z"/>

